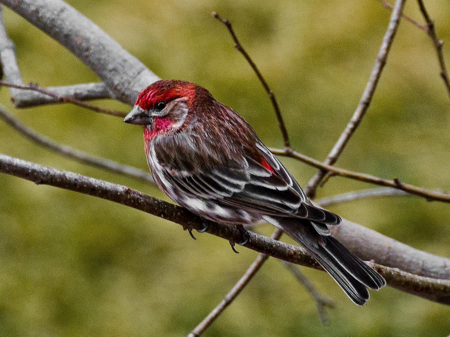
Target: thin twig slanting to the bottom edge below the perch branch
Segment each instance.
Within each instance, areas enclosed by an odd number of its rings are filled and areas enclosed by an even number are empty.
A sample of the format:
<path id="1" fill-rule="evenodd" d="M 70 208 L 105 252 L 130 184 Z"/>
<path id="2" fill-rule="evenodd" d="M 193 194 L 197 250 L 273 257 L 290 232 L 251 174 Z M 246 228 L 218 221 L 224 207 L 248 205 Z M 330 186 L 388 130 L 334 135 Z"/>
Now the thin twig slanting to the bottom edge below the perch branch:
<path id="1" fill-rule="evenodd" d="M 276 229 L 270 238 L 273 240 L 279 240 L 283 231 Z M 259 254 L 256 260 L 248 267 L 244 275 L 237 281 L 237 283 L 231 288 L 228 294 L 225 295 L 223 300 L 201 321 L 188 335 L 188 337 L 196 337 L 203 334 L 203 332 L 215 321 L 215 319 L 228 307 L 231 302 L 239 295 L 242 289 L 250 282 L 253 276 L 259 271 L 264 262 L 268 259 L 268 255 Z"/>

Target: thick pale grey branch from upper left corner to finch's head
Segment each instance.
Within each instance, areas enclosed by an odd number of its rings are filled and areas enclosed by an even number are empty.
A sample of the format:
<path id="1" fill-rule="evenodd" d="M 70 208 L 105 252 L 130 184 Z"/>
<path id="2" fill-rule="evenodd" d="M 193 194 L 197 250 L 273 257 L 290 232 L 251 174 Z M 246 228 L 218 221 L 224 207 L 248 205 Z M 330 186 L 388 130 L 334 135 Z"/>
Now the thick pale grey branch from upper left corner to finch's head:
<path id="1" fill-rule="evenodd" d="M 133 104 L 142 88 L 159 79 L 96 24 L 62 0 L 0 2 L 66 47 L 121 102 Z"/>

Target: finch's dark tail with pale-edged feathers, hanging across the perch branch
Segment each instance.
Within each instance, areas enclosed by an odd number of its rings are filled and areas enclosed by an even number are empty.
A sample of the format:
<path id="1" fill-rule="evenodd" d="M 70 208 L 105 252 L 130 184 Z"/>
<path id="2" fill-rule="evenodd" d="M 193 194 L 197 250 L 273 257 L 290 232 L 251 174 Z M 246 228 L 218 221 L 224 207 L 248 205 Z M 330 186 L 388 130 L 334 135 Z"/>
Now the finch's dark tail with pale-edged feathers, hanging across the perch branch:
<path id="1" fill-rule="evenodd" d="M 351 301 L 362 306 L 369 298 L 367 287 L 378 290 L 384 278 L 348 251 L 331 235 L 320 235 L 310 220 L 276 218 L 277 227 L 303 246 L 337 282 Z"/>

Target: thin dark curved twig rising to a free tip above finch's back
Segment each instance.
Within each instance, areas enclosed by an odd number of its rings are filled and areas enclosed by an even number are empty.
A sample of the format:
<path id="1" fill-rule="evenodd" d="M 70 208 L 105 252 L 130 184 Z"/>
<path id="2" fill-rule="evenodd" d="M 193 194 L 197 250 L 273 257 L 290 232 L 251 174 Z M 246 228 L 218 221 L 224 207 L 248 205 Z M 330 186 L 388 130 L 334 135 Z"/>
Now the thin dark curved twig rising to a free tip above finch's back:
<path id="1" fill-rule="evenodd" d="M 289 136 L 287 135 L 286 126 L 284 125 L 283 117 L 281 116 L 281 112 L 279 110 L 278 103 L 276 102 L 275 95 L 273 94 L 273 91 L 269 88 L 269 86 L 268 86 L 267 82 L 265 81 L 264 77 L 262 76 L 261 72 L 256 67 L 256 64 L 253 62 L 251 57 L 247 54 L 245 49 L 240 44 L 239 40 L 237 39 L 236 34 L 234 33 L 233 28 L 231 27 L 231 23 L 229 22 L 229 20 L 221 18 L 214 11 L 212 12 L 212 16 L 214 16 L 217 20 L 222 22 L 226 26 L 226 28 L 228 28 L 228 31 L 231 34 L 231 37 L 233 38 L 233 41 L 234 41 L 234 47 L 238 51 L 240 51 L 240 53 L 245 57 L 245 59 L 247 60 L 248 64 L 250 64 L 251 68 L 256 73 L 256 76 L 258 77 L 259 81 L 262 83 L 262 86 L 264 87 L 265 91 L 267 91 L 267 94 L 270 97 L 270 101 L 272 102 L 273 109 L 275 110 L 276 118 L 278 120 L 279 129 L 281 130 L 281 134 L 283 136 L 284 147 L 285 148 L 290 148 Z"/>

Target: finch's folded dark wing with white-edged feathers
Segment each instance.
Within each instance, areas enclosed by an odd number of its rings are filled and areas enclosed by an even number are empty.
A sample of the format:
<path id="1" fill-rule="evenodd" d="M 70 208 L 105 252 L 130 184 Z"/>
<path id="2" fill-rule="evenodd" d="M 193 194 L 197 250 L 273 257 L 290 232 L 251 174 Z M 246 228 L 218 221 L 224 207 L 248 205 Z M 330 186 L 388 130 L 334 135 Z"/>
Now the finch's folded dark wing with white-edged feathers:
<path id="1" fill-rule="evenodd" d="M 308 219 L 317 223 L 322 235 L 329 235 L 326 226 L 320 224 L 335 225 L 340 218 L 311 205 L 278 159 L 262 143 L 257 147 L 261 153 L 259 158 L 245 155 L 240 165 L 232 168 L 189 171 L 175 169 L 169 163 L 160 164 L 164 178 L 185 197 L 261 215 Z"/>

